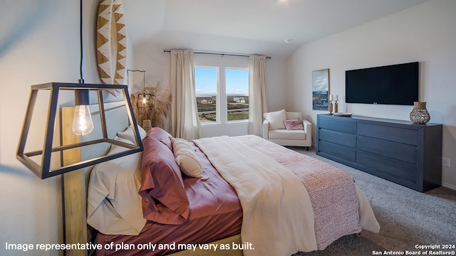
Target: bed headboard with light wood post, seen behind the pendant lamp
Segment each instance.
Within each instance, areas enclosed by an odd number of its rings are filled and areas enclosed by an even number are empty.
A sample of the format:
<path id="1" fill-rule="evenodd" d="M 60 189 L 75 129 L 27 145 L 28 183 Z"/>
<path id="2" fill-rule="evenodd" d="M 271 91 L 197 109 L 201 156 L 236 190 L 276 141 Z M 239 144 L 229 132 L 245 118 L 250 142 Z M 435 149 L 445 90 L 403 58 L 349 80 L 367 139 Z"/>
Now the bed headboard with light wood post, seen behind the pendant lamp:
<path id="1" fill-rule="evenodd" d="M 125 111 L 125 102 L 105 103 L 105 119 L 108 129 L 108 138 L 113 139 L 116 132 L 125 130 L 129 125 L 128 113 Z M 73 124 L 74 107 L 61 107 L 61 142 L 63 145 L 74 144 L 77 142 L 90 141 L 99 138 L 100 111 L 97 105 L 90 105 L 90 113 L 94 122 L 95 130 L 83 137 L 73 134 L 71 126 Z M 134 118 L 134 117 L 133 117 Z M 63 151 L 63 164 L 73 164 L 81 159 L 88 159 L 88 156 L 104 156 L 108 153 L 110 144 L 100 143 L 93 146 L 69 149 Z M 64 204 L 64 242 L 66 244 L 86 243 L 90 240 L 90 231 L 87 225 L 87 189 L 90 171 L 93 166 L 71 171 L 63 174 L 63 204 Z M 87 255 L 84 250 L 67 251 L 66 255 Z"/>

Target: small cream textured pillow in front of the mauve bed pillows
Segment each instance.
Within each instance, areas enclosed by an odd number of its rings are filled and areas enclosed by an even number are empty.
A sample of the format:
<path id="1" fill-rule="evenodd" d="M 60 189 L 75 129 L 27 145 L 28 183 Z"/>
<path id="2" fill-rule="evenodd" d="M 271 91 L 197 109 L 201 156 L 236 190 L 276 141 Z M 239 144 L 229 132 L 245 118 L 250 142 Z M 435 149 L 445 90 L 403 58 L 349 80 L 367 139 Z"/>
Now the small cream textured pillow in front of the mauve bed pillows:
<path id="1" fill-rule="evenodd" d="M 180 170 L 187 176 L 202 178 L 202 166 L 192 144 L 185 139 L 173 138 L 172 148 Z"/>

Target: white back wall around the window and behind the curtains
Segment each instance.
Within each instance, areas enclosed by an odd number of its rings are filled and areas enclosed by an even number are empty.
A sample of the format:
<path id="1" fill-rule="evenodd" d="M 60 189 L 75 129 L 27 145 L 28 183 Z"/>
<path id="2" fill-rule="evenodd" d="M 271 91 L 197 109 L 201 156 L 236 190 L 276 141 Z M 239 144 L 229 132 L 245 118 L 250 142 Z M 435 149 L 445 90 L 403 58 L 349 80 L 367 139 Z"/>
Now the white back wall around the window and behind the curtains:
<path id="1" fill-rule="evenodd" d="M 147 70 L 146 86 L 155 86 L 159 81 L 163 87 L 170 86 L 170 53 L 164 53 L 166 46 L 155 45 L 152 41 L 142 43 L 134 48 L 133 69 Z M 221 50 L 222 51 L 222 50 Z M 242 67 L 249 65 L 249 58 L 195 54 L 196 65 L 220 65 L 226 67 Z M 281 110 L 286 107 L 286 60 L 266 60 L 266 93 L 269 110 Z M 141 79 L 130 80 L 130 91 L 142 90 Z M 202 137 L 213 137 L 220 135 L 245 135 L 248 132 L 247 122 L 230 122 L 228 124 L 204 124 L 202 126 Z"/>

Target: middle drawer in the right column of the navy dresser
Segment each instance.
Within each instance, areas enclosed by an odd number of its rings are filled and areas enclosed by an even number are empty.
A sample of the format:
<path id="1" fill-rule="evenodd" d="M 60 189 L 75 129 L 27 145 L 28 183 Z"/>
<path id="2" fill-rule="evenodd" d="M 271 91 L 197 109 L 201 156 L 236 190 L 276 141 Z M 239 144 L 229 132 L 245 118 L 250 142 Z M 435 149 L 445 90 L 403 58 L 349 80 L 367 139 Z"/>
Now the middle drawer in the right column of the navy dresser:
<path id="1" fill-rule="evenodd" d="M 416 146 L 359 136 L 356 148 L 399 161 L 406 161 L 410 164 L 417 164 Z"/>

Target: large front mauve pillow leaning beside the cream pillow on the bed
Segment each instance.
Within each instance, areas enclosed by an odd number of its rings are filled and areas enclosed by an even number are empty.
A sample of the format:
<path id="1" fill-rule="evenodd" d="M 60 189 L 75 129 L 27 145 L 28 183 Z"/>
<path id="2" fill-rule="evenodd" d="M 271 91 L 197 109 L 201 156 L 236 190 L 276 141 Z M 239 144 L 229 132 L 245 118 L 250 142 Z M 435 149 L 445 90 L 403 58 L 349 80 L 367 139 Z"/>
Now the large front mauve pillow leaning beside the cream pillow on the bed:
<path id="1" fill-rule="evenodd" d="M 185 223 L 190 203 L 172 151 L 152 137 L 142 140 L 141 174 L 144 218 L 162 224 Z"/>

